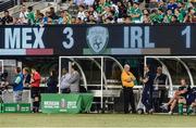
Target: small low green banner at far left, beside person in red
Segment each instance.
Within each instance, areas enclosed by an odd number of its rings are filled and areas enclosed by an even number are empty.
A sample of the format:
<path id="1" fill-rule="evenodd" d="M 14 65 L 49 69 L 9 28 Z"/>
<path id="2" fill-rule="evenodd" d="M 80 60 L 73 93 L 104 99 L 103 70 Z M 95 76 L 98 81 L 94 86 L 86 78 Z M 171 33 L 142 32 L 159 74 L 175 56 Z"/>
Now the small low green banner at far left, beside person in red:
<path id="1" fill-rule="evenodd" d="M 3 103 L 2 113 L 30 113 L 29 103 Z"/>

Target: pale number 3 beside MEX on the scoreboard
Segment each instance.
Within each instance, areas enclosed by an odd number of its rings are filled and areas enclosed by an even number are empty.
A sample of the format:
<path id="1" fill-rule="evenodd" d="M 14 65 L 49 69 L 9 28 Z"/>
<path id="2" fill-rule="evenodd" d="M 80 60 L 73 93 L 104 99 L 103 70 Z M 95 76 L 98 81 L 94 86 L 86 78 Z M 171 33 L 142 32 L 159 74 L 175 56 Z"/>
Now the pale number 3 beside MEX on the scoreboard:
<path id="1" fill-rule="evenodd" d="M 62 44 L 65 49 L 71 49 L 74 46 L 73 29 L 71 27 L 65 27 L 63 34 L 66 35 L 68 41 L 63 41 Z"/>

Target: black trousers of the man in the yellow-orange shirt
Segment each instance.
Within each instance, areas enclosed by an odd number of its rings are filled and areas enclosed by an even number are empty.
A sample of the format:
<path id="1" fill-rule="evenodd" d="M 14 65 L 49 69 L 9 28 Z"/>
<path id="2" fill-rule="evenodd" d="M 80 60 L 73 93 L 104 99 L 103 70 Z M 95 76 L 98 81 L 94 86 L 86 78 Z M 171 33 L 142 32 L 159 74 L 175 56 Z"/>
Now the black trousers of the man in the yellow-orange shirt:
<path id="1" fill-rule="evenodd" d="M 132 112 L 135 113 L 135 100 L 134 100 L 134 93 L 133 93 L 133 88 L 131 87 L 124 87 L 124 113 L 128 113 L 128 106 L 131 104 L 132 106 Z"/>

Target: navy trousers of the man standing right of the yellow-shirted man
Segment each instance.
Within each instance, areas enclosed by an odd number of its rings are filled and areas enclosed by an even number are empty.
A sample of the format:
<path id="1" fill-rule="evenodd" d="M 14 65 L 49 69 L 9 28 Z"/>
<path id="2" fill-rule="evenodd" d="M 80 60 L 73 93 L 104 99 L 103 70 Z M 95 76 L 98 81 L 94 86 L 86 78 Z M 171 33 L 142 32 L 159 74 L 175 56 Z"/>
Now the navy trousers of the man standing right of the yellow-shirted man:
<path id="1" fill-rule="evenodd" d="M 142 102 L 147 112 L 152 108 L 152 89 L 151 85 L 145 85 L 143 90 Z"/>

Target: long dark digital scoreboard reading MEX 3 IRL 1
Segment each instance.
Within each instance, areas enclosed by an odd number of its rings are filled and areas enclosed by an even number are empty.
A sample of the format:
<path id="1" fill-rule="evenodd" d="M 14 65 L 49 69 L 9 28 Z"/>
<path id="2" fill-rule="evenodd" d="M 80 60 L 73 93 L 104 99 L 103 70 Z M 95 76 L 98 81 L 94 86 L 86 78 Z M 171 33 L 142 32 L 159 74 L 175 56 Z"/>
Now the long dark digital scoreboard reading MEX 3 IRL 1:
<path id="1" fill-rule="evenodd" d="M 0 26 L 0 55 L 194 55 L 195 48 L 194 24 Z"/>

